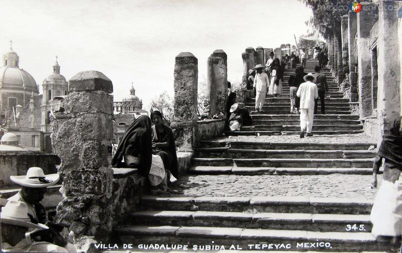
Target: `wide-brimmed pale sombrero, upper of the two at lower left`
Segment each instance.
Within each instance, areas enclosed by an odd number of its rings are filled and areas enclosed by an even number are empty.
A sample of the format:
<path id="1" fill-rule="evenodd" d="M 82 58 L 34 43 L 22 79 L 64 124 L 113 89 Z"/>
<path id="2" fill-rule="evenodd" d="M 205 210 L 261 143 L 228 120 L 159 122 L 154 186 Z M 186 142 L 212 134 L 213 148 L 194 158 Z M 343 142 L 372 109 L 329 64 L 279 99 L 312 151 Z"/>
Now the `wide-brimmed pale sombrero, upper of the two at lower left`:
<path id="1" fill-rule="evenodd" d="M 10 176 L 10 179 L 22 186 L 43 188 L 56 184 L 60 179 L 60 175 L 57 173 L 45 175 L 41 168 L 31 167 L 28 169 L 26 176 Z"/>

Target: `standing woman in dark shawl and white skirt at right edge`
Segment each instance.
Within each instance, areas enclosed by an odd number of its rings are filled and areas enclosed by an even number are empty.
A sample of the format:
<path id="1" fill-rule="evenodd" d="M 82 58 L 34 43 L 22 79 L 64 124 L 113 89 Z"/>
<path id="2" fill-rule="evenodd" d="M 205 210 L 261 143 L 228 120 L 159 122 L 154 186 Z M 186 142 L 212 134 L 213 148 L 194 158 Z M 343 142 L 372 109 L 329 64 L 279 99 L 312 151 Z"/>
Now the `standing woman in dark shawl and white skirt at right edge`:
<path id="1" fill-rule="evenodd" d="M 390 238 L 392 251 L 399 249 L 402 236 L 402 117 L 394 120 L 390 133 L 384 135 L 373 163 L 373 182 L 377 187 L 377 173 L 383 163 L 383 179 L 371 209 L 371 233 Z M 396 251 L 395 251 L 396 252 Z"/>

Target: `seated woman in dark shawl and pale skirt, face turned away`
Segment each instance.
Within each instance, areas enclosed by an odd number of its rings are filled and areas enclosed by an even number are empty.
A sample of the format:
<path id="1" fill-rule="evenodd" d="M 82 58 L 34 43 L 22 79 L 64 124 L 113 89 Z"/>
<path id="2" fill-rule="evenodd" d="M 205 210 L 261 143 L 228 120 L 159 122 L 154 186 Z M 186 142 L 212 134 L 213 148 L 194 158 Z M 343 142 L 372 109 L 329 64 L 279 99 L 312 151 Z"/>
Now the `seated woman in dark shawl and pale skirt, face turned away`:
<path id="1" fill-rule="evenodd" d="M 127 128 L 112 158 L 112 166 L 137 168 L 149 179 L 152 191 L 167 191 L 167 175 L 162 159 L 152 155 L 151 119 L 147 115 L 140 115 Z"/>

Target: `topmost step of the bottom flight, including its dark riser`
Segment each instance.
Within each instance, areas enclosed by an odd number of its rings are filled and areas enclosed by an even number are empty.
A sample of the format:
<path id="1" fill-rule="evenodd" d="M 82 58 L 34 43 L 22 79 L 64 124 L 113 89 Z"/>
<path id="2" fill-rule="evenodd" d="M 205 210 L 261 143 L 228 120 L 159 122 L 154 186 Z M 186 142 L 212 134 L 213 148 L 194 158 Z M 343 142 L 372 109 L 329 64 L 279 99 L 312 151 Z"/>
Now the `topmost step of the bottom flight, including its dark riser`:
<path id="1" fill-rule="evenodd" d="M 144 210 L 370 214 L 373 199 L 310 196 L 142 196 Z"/>

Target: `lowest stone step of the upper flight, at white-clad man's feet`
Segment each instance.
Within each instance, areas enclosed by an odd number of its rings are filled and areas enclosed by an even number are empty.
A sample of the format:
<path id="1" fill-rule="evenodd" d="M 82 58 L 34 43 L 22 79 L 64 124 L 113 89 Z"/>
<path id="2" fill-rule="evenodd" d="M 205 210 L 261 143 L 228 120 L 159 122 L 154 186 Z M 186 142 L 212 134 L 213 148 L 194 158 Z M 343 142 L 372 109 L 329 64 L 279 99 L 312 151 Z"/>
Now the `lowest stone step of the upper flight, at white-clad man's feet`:
<path id="1" fill-rule="evenodd" d="M 339 135 L 339 134 L 358 134 L 364 133 L 364 130 L 339 130 L 339 131 L 314 131 L 314 135 Z M 299 135 L 298 131 L 226 131 L 227 136 L 260 136 L 260 135 Z M 308 138 L 308 137 L 307 137 Z"/>

